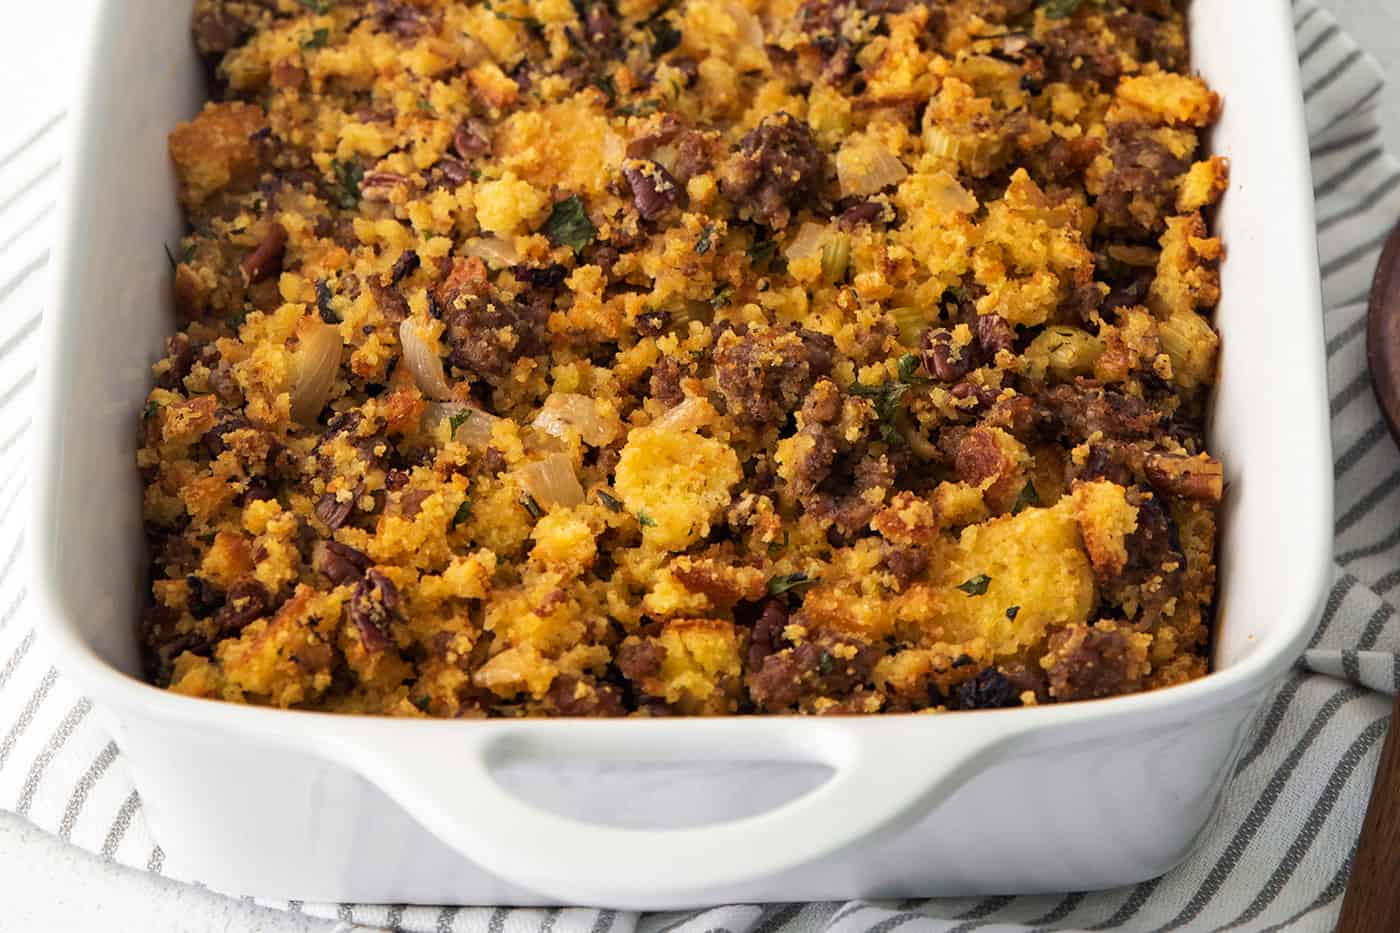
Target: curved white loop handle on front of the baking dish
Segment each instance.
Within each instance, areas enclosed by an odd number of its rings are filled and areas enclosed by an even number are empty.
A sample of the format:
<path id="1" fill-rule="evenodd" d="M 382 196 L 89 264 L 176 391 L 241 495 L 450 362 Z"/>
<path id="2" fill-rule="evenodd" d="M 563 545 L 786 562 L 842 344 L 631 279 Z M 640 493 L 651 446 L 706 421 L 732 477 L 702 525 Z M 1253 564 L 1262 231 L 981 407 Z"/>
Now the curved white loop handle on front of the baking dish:
<path id="1" fill-rule="evenodd" d="M 923 719 L 923 717 L 918 717 Z M 336 742 L 335 758 L 497 877 L 557 904 L 645 909 L 706 901 L 869 841 L 937 806 L 1022 731 L 1004 713 L 606 723 L 398 723 Z M 916 728 L 923 726 L 924 728 Z M 930 742 L 930 737 L 934 741 Z M 493 775 L 505 762 L 802 762 L 832 776 L 750 817 L 703 827 L 598 825 L 536 807 Z M 713 895 L 711 895 L 713 897 Z"/>

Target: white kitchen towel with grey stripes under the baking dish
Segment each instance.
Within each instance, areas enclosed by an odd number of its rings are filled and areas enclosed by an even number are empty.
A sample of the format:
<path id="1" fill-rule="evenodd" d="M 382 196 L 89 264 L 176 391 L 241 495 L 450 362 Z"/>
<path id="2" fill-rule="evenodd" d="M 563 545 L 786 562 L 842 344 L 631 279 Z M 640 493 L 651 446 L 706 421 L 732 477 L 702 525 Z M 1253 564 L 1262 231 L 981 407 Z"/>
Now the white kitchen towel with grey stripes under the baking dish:
<path id="1" fill-rule="evenodd" d="M 342 927 L 489 933 L 1331 929 L 1386 730 L 1386 695 L 1400 685 L 1400 452 L 1371 396 L 1362 336 L 1372 269 L 1400 217 L 1400 164 L 1382 144 L 1375 62 L 1313 0 L 1298 0 L 1294 10 L 1327 308 L 1336 581 L 1312 644 L 1261 713 L 1219 818 L 1186 864 L 1127 890 L 1060 897 L 734 905 L 662 915 L 273 906 Z M 0 144 L 0 807 L 105 859 L 161 871 L 161 848 L 120 748 L 36 647 L 17 569 L 60 122 L 41 118 L 27 137 Z"/>

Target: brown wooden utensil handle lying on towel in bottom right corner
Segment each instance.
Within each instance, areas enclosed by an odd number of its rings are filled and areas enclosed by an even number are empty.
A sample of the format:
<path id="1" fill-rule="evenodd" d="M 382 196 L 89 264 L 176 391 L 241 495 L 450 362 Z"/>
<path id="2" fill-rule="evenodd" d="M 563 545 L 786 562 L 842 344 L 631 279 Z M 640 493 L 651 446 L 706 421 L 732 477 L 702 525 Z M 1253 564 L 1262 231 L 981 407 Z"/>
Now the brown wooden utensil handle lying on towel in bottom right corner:
<path id="1" fill-rule="evenodd" d="M 1380 751 L 1371 807 L 1361 827 L 1337 933 L 1400 930 L 1400 696 L 1390 707 L 1390 733 Z"/>

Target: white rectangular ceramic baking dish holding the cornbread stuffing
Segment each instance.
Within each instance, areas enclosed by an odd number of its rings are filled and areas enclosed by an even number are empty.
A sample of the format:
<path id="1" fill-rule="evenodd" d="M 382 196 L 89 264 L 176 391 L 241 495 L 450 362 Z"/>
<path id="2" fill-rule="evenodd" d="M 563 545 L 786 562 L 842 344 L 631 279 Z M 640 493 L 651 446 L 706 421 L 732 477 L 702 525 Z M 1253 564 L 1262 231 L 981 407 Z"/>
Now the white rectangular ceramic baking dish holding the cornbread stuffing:
<path id="1" fill-rule="evenodd" d="M 185 3 L 105 0 L 71 116 L 45 318 L 35 594 L 106 716 L 167 869 L 318 901 L 722 901 L 1084 891 L 1172 867 L 1211 817 L 1330 573 L 1312 185 L 1285 0 L 1197 0 L 1225 97 L 1228 471 L 1217 672 L 1141 696 L 867 719 L 392 721 L 139 679 L 136 412 L 174 331 L 165 134 L 200 104 Z M 1247 45 L 1243 38 L 1247 36 Z"/>

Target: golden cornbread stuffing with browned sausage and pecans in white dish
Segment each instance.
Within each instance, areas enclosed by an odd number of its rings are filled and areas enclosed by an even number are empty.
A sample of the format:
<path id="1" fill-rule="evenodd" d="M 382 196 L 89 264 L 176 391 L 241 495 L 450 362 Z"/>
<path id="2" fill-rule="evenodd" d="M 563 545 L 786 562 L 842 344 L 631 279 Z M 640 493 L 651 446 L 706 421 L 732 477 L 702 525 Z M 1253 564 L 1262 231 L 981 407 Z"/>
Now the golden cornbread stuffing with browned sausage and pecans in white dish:
<path id="1" fill-rule="evenodd" d="M 150 678 L 395 716 L 1207 672 L 1179 0 L 199 0 Z"/>

